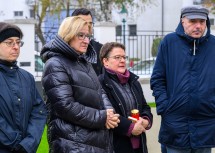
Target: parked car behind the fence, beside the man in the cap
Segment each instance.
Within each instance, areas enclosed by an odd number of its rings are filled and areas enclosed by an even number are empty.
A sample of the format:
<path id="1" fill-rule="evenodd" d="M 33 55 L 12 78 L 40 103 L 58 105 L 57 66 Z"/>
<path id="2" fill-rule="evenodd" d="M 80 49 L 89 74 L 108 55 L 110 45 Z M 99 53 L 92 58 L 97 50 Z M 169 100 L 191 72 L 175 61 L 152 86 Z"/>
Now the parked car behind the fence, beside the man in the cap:
<path id="1" fill-rule="evenodd" d="M 138 75 L 140 78 L 150 78 L 155 64 L 155 57 L 147 58 L 134 64 L 129 71 Z"/>

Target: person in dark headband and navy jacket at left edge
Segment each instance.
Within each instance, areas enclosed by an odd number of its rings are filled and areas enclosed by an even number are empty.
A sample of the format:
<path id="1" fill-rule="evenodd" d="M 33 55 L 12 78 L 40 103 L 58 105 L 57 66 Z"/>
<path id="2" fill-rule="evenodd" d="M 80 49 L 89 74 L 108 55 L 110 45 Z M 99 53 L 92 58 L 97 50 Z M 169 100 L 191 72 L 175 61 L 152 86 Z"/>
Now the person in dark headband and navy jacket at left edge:
<path id="1" fill-rule="evenodd" d="M 46 122 L 34 77 L 17 66 L 22 31 L 0 22 L 0 153 L 35 153 Z"/>

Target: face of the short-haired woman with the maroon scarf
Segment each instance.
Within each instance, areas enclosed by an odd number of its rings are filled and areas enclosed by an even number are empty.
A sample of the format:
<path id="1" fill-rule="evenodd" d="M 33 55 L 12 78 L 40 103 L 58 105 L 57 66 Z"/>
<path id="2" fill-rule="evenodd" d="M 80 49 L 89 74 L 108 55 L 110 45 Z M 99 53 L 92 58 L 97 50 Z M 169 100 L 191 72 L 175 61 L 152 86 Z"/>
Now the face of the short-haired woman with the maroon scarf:
<path id="1" fill-rule="evenodd" d="M 126 70 L 125 57 L 124 49 L 119 47 L 113 48 L 108 57 L 103 59 L 104 67 L 124 74 Z"/>

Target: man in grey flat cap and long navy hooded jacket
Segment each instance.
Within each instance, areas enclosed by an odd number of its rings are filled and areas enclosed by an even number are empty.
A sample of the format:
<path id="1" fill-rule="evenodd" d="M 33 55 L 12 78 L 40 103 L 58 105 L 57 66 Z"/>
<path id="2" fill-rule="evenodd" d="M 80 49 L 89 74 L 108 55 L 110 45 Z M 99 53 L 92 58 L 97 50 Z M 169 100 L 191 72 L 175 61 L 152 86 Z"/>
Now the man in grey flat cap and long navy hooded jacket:
<path id="1" fill-rule="evenodd" d="M 176 32 L 158 49 L 151 89 L 167 153 L 211 153 L 215 147 L 215 37 L 208 13 L 183 8 Z"/>

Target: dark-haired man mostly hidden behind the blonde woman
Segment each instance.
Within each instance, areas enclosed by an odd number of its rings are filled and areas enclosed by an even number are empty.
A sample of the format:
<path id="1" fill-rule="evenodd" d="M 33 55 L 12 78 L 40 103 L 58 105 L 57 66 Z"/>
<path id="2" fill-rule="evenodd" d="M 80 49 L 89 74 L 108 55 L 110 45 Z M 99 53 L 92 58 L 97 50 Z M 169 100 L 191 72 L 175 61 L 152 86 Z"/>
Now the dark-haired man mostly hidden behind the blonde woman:
<path id="1" fill-rule="evenodd" d="M 86 8 L 79 8 L 73 11 L 72 16 L 79 16 L 90 23 L 93 27 L 93 16 L 92 13 Z M 102 73 L 102 66 L 99 60 L 99 52 L 102 47 L 102 44 L 95 41 L 95 39 L 91 39 L 87 48 L 86 54 L 92 54 L 92 51 L 97 54 L 97 58 L 95 60 L 88 60 L 93 66 L 96 74 L 99 75 Z"/>

